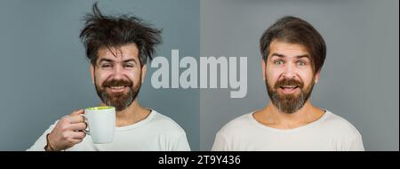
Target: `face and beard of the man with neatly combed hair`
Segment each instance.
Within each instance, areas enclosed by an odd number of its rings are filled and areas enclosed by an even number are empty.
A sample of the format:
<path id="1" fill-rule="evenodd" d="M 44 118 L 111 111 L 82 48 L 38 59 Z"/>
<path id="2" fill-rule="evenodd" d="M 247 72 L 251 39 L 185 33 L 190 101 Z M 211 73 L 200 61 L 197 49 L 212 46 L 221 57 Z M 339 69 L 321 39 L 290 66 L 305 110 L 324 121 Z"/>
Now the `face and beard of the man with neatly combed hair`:
<path id="1" fill-rule="evenodd" d="M 272 103 L 287 114 L 302 108 L 319 79 L 307 48 L 273 40 L 266 62 L 263 61 L 262 67 Z"/>

